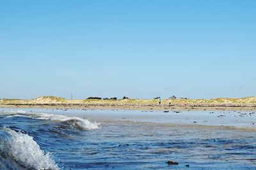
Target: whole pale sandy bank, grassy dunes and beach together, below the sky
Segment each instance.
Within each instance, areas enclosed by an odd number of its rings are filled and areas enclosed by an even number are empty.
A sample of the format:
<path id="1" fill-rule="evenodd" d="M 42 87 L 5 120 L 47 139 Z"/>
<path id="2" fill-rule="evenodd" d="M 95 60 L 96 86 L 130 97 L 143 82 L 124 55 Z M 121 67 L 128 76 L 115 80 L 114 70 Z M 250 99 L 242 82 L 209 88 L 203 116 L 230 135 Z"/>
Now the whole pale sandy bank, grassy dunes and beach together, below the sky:
<path id="1" fill-rule="evenodd" d="M 240 110 L 255 111 L 256 97 L 218 99 L 157 99 L 124 100 L 67 100 L 61 97 L 43 96 L 32 100 L 0 99 L 0 108 L 58 108 L 84 110 Z"/>

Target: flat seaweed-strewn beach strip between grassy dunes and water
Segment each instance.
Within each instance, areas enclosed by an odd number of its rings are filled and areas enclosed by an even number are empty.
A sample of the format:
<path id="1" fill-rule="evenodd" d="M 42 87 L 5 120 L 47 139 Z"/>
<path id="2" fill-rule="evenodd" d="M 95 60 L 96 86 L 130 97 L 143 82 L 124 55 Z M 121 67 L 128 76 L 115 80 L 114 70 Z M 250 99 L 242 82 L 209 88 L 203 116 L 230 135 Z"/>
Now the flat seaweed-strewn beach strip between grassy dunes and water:
<path id="1" fill-rule="evenodd" d="M 0 103 L 0 108 L 51 108 L 81 110 L 256 111 L 256 104 L 152 103 Z"/>

